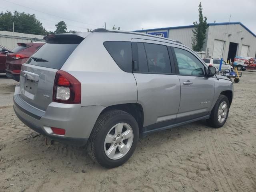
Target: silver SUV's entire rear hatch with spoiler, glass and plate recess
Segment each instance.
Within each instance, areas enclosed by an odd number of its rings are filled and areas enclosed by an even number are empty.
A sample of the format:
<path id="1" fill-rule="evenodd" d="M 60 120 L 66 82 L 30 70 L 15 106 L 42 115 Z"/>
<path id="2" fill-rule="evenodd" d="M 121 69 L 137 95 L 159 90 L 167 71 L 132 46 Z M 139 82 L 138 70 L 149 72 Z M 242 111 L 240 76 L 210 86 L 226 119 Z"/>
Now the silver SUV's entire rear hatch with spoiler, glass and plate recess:
<path id="1" fill-rule="evenodd" d="M 56 34 L 45 37 L 46 44 L 33 54 L 20 73 L 20 92 L 28 104 L 46 111 L 52 102 L 55 74 L 84 37 Z"/>

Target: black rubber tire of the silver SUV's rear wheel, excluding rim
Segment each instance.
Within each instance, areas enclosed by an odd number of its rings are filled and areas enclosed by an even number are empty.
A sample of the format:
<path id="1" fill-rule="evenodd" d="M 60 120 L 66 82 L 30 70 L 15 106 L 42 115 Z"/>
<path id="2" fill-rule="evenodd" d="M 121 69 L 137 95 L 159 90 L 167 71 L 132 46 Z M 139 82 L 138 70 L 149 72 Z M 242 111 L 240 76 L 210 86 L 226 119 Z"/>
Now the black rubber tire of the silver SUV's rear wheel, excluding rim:
<path id="1" fill-rule="evenodd" d="M 113 160 L 104 151 L 104 141 L 110 129 L 118 123 L 128 124 L 133 131 L 133 142 L 130 150 L 122 158 Z M 134 117 L 121 110 L 110 110 L 101 114 L 92 130 L 87 143 L 88 154 L 98 164 L 106 168 L 114 168 L 124 164 L 134 153 L 139 139 L 139 127 Z"/>

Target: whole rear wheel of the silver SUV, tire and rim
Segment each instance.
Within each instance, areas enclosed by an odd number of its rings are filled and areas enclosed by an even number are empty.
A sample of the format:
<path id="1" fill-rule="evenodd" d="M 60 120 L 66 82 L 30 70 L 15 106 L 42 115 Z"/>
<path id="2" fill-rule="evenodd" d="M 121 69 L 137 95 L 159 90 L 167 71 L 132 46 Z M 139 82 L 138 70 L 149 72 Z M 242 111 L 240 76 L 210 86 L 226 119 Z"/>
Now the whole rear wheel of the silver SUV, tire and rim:
<path id="1" fill-rule="evenodd" d="M 111 110 L 96 121 L 87 144 L 88 154 L 101 166 L 114 168 L 132 156 L 138 138 L 134 117 L 121 110 Z"/>

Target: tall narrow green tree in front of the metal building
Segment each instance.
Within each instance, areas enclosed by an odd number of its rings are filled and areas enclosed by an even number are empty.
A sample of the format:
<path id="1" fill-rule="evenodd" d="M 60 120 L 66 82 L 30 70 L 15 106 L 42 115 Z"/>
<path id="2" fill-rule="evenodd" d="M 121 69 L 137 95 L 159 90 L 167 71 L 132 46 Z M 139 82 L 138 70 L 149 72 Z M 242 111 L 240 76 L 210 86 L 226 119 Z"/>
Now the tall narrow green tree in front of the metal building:
<path id="1" fill-rule="evenodd" d="M 202 51 L 203 45 L 204 45 L 204 40 L 206 38 L 206 29 L 208 28 L 207 25 L 207 17 L 203 17 L 202 13 L 202 5 L 201 2 L 199 4 L 199 23 L 193 22 L 195 28 L 192 30 L 193 32 L 193 37 L 192 37 L 192 49 L 194 51 Z"/>

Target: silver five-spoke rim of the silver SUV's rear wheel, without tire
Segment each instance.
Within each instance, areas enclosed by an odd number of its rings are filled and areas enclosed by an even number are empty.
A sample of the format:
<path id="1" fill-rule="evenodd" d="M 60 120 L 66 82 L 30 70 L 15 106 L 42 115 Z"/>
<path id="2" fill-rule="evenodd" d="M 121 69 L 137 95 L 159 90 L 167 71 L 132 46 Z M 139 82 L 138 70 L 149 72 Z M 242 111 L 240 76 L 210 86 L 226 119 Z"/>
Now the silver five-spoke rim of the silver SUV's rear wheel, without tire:
<path id="1" fill-rule="evenodd" d="M 113 126 L 104 141 L 104 151 L 110 159 L 120 159 L 130 150 L 133 142 L 133 131 L 130 125 L 118 123 Z"/>

